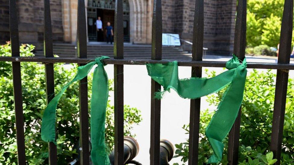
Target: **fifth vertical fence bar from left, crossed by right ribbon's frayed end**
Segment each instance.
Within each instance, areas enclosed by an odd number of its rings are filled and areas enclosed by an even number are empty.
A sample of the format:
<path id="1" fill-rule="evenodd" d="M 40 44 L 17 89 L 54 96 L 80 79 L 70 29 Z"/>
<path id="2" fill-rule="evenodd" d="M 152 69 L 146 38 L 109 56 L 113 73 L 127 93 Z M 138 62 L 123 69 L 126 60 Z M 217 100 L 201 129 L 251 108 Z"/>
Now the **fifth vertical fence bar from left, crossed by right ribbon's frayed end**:
<path id="1" fill-rule="evenodd" d="M 162 58 L 162 14 L 161 0 L 154 0 L 152 16 L 152 60 Z M 155 92 L 161 85 L 151 79 L 151 129 L 150 129 L 150 165 L 159 164 L 160 150 L 160 107 L 161 101 L 155 99 Z"/>

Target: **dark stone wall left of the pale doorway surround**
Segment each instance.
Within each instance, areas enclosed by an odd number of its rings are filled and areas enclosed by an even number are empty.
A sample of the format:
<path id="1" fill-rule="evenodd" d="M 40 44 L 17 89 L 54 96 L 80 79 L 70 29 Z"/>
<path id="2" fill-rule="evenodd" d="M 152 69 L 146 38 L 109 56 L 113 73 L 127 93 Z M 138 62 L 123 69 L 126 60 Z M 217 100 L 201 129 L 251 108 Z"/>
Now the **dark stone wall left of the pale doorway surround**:
<path id="1" fill-rule="evenodd" d="M 0 0 L 0 4 L 0 41 L 3 42 L 9 40 L 9 1 Z M 51 0 L 50 7 L 53 41 L 63 42 L 61 0 Z M 42 48 L 44 1 L 18 0 L 17 9 L 20 42 Z"/>

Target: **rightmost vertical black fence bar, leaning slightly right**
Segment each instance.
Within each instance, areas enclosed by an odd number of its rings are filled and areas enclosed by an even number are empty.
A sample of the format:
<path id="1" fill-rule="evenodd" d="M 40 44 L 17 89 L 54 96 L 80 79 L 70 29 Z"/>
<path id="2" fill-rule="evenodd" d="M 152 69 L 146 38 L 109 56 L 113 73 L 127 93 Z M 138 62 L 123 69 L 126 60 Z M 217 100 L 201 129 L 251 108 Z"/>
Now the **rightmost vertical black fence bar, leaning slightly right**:
<path id="1" fill-rule="evenodd" d="M 289 54 L 291 53 L 292 27 L 293 0 L 285 0 L 280 33 L 279 64 L 289 64 L 290 62 Z M 278 160 L 275 165 L 279 165 L 281 160 L 288 75 L 289 70 L 277 70 L 273 125 L 271 130 L 271 151 L 274 153 L 274 158 Z"/>

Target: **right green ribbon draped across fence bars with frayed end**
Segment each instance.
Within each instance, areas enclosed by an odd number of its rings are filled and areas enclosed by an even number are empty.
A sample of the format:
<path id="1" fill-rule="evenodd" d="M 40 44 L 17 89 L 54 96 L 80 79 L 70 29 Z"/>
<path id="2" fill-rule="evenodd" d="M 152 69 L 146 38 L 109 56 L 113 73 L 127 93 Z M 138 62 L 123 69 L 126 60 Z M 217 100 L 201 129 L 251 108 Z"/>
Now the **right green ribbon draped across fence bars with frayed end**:
<path id="1" fill-rule="evenodd" d="M 205 135 L 214 151 L 208 163 L 220 162 L 224 150 L 222 141 L 230 132 L 242 103 L 247 74 L 246 59 L 240 64 L 239 59 L 233 54 L 233 58 L 226 63 L 228 70 L 213 78 L 179 79 L 177 61 L 146 64 L 146 66 L 148 75 L 164 88 L 163 92 L 155 93 L 157 99 L 161 99 L 166 91 L 170 92 L 170 89 L 174 89 L 182 98 L 196 99 L 227 87 L 217 111 L 205 130 Z"/>

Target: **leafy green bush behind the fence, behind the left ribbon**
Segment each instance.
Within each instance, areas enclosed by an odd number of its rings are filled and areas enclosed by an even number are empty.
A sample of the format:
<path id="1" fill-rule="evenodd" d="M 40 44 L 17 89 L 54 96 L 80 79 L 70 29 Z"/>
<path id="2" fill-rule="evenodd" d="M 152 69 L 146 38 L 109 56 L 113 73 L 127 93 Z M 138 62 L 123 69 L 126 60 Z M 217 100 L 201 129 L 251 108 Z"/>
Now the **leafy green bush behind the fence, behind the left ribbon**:
<path id="1" fill-rule="evenodd" d="M 33 45 L 21 45 L 20 56 L 33 56 Z M 0 56 L 11 56 L 10 44 L 0 46 Z M 77 71 L 55 64 L 55 91 L 70 81 Z M 41 140 L 40 125 L 46 107 L 45 67 L 41 63 L 21 63 L 23 93 L 23 115 L 26 158 L 30 164 L 48 164 L 48 143 Z M 0 164 L 17 163 L 17 145 L 15 135 L 13 83 L 10 62 L 0 62 Z M 88 96 L 91 96 L 92 75 L 88 76 Z M 109 81 L 110 88 L 113 90 Z M 57 152 L 58 164 L 67 164 L 77 154 L 73 145 L 79 140 L 79 105 L 77 82 L 68 87 L 57 106 Z M 90 100 L 90 99 L 89 99 Z M 89 104 L 90 106 L 90 104 Z M 89 107 L 90 110 L 90 107 Z M 124 106 L 124 134 L 131 133 L 133 126 L 142 118 L 137 108 Z M 108 101 L 106 112 L 105 139 L 110 149 L 114 145 L 114 106 Z"/>

